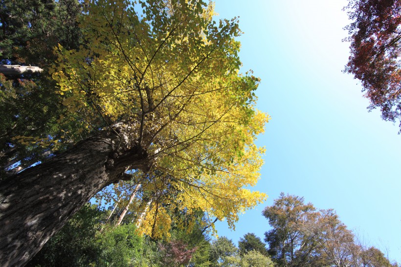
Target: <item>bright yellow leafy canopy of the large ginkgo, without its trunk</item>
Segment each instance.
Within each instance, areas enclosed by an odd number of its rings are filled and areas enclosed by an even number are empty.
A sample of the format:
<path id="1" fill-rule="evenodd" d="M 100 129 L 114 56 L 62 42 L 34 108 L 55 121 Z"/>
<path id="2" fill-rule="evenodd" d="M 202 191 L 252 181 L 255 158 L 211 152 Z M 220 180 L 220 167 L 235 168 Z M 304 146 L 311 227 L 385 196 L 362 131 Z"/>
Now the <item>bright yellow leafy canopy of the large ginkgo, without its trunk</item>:
<path id="1" fill-rule="evenodd" d="M 89 3 L 83 45 L 56 50 L 50 72 L 64 119 L 79 110 L 83 129 L 99 114 L 111 129 L 119 123 L 125 145 L 146 151 L 156 194 L 174 188 L 180 209 L 233 226 L 265 197 L 243 186 L 259 177 L 263 149 L 254 140 L 268 118 L 254 107 L 259 79 L 239 73 L 237 20 L 215 24 L 213 6 L 201 1 L 139 1 L 143 15 L 129 4 Z"/>

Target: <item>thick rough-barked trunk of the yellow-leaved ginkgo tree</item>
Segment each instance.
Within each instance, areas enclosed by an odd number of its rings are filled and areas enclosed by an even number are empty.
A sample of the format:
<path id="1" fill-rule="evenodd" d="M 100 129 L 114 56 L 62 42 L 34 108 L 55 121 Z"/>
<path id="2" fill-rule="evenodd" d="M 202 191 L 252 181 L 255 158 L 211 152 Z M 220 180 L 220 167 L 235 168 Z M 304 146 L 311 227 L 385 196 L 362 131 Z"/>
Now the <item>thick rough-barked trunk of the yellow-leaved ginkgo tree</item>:
<path id="1" fill-rule="evenodd" d="M 118 152 L 120 137 L 103 131 L 49 161 L 0 183 L 0 266 L 23 266 L 83 204 L 119 179 L 129 163 L 147 169 L 137 147 Z"/>

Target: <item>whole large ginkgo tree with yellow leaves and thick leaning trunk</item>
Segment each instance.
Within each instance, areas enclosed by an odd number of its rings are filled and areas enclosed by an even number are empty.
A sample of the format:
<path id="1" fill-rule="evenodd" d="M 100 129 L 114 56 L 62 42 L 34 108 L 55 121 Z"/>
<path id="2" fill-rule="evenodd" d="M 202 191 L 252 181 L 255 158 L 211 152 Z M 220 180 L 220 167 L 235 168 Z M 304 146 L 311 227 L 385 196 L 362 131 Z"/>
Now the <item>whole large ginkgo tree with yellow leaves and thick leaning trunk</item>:
<path id="1" fill-rule="evenodd" d="M 239 71 L 238 20 L 213 21 L 213 5 L 200 0 L 88 0 L 85 8 L 82 45 L 56 47 L 49 73 L 67 107 L 58 123 L 79 113 L 80 131 L 95 134 L 1 182 L 1 266 L 26 262 L 133 170 L 150 174 L 157 201 L 141 231 L 154 236 L 169 227 L 169 204 L 233 227 L 266 198 L 245 188 L 259 178 L 264 149 L 254 141 L 268 116 L 255 108 L 259 78 Z"/>

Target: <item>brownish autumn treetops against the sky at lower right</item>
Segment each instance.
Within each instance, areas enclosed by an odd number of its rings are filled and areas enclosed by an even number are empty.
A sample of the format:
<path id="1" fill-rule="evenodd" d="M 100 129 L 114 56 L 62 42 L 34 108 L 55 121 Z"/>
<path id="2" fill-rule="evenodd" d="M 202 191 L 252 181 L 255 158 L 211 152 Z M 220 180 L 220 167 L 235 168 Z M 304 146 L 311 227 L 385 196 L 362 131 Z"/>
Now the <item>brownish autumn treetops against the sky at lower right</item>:
<path id="1" fill-rule="evenodd" d="M 317 211 L 302 197 L 281 193 L 263 215 L 272 227 L 265 233 L 268 252 L 279 267 L 398 266 L 358 242 L 333 209 Z"/>

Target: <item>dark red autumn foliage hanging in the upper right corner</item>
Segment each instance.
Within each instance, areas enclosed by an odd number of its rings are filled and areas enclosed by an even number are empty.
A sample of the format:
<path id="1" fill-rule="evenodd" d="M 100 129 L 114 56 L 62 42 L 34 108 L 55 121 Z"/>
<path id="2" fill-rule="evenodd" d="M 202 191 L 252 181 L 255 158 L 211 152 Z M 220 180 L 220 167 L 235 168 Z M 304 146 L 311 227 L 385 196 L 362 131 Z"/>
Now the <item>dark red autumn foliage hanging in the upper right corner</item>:
<path id="1" fill-rule="evenodd" d="M 351 56 L 345 71 L 362 82 L 369 109 L 384 120 L 401 118 L 401 1 L 350 0 L 346 27 Z M 401 127 L 401 124 L 400 124 Z"/>

